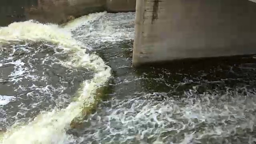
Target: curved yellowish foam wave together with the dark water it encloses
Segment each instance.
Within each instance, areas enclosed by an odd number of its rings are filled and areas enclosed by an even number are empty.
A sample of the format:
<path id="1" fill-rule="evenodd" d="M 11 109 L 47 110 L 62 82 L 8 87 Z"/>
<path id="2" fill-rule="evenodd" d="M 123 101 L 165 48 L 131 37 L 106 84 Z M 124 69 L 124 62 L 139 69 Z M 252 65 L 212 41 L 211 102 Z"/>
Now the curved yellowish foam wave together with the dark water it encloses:
<path id="1" fill-rule="evenodd" d="M 2 109 L 4 126 L 11 126 L 1 134 L 3 143 L 76 142 L 65 130 L 96 106 L 111 69 L 86 53 L 71 29 L 31 20 L 0 28 L 1 55 L 7 57 L 1 60 L 10 65 L 3 85 L 12 85 L 15 95 Z M 72 96 L 76 100 L 70 102 Z"/>

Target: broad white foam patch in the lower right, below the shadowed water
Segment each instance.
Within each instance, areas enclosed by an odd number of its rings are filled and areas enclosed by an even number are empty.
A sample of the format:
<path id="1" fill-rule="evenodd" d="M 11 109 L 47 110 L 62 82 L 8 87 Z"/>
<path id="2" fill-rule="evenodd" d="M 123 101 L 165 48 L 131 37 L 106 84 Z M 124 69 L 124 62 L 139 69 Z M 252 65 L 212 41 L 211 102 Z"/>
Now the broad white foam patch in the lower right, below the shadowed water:
<path id="1" fill-rule="evenodd" d="M 224 99 L 218 99 L 220 97 Z M 111 106 L 88 118 L 92 121 L 90 130 L 93 133 L 88 132 L 84 137 L 98 143 L 135 140 L 164 144 L 204 143 L 202 140 L 206 137 L 230 138 L 237 129 L 240 133 L 247 129 L 253 131 L 255 102 L 256 98 L 228 93 L 224 97 L 202 94 L 177 100 L 161 93 L 126 100 L 113 98 L 109 101 Z M 99 115 L 101 117 L 96 118 Z"/>

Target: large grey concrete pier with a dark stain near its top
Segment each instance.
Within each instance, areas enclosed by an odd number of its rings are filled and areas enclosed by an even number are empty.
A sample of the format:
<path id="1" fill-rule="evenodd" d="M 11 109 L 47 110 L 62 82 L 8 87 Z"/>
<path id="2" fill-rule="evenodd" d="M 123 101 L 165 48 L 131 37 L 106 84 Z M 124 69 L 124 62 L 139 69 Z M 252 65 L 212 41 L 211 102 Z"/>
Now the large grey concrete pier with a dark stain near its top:
<path id="1" fill-rule="evenodd" d="M 256 53 L 256 3 L 138 0 L 133 65 Z"/>

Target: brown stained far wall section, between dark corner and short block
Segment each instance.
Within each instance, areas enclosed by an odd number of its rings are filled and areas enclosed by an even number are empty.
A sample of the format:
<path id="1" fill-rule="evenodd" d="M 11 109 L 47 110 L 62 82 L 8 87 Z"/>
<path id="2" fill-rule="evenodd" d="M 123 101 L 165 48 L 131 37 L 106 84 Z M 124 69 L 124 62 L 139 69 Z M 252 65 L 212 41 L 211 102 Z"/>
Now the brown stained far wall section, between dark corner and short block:
<path id="1" fill-rule="evenodd" d="M 64 23 L 72 17 L 105 10 L 106 0 L 38 0 L 38 6 L 25 9 L 28 19 Z"/>

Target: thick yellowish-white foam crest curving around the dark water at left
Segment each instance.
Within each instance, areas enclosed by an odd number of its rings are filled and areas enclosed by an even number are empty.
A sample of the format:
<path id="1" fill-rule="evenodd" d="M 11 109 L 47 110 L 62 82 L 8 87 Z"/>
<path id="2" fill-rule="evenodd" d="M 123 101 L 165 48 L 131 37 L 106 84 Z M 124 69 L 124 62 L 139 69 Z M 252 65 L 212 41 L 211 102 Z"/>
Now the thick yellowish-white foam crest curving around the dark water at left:
<path id="1" fill-rule="evenodd" d="M 54 24 L 41 24 L 33 21 L 15 22 L 0 28 L 0 44 L 13 42 L 47 41 L 58 44 L 65 52 L 70 53 L 69 60 L 63 61 L 67 67 L 85 67 L 94 70 L 92 80 L 82 83 L 77 93 L 77 100 L 64 109 L 54 109 L 39 114 L 34 121 L 15 128 L 10 128 L 2 136 L 2 144 L 63 144 L 74 141 L 66 134 L 66 128 L 72 120 L 79 117 L 82 110 L 92 108 L 96 102 L 95 93 L 111 76 L 110 67 L 95 54 L 86 54 L 83 45 L 72 38 L 71 29 L 98 18 L 104 13 L 91 14 L 61 28 Z M 80 23 L 80 24 L 76 24 Z M 88 111 L 88 110 L 87 110 Z"/>

